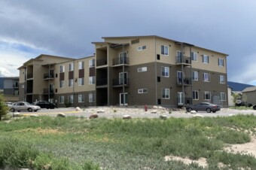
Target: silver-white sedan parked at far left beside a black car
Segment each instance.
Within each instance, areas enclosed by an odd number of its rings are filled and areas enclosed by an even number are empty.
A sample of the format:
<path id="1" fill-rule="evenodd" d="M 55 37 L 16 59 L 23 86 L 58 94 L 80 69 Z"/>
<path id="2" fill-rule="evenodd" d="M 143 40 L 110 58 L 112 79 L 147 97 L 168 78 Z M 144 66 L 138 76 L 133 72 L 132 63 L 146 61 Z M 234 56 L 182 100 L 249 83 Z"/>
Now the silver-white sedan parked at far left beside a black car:
<path id="1" fill-rule="evenodd" d="M 8 105 L 11 112 L 14 111 L 39 111 L 41 108 L 38 105 L 32 105 L 29 102 L 16 102 L 13 105 Z"/>

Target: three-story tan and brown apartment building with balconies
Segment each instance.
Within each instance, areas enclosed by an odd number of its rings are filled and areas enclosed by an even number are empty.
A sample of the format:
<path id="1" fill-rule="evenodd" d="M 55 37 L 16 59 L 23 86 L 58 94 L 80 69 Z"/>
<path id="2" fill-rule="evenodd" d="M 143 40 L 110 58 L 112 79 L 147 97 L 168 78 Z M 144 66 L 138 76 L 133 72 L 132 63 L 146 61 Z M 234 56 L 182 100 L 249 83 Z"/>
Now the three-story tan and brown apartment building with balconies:
<path id="1" fill-rule="evenodd" d="M 59 107 L 213 102 L 227 107 L 227 54 L 159 36 L 104 37 L 95 56 L 40 55 L 20 69 L 20 100 Z"/>

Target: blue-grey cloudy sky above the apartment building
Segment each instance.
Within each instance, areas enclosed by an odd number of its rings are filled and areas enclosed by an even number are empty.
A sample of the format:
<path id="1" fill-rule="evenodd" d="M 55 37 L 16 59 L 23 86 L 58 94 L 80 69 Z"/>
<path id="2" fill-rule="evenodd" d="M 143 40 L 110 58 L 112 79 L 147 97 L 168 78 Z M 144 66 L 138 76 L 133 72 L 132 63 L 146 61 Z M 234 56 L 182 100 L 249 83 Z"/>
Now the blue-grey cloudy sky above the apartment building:
<path id="1" fill-rule="evenodd" d="M 107 36 L 158 35 L 229 54 L 228 80 L 256 85 L 255 0 L 0 0 L 0 77 L 41 53 L 80 58 Z"/>

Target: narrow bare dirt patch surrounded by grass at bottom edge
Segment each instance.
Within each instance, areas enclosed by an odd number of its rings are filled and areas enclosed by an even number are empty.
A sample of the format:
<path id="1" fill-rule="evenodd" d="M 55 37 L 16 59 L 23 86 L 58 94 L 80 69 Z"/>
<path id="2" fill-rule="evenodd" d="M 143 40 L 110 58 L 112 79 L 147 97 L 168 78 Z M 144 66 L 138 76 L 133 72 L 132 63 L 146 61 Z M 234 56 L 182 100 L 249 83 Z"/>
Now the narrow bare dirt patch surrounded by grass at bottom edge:
<path id="1" fill-rule="evenodd" d="M 201 157 L 200 159 L 197 159 L 197 160 L 192 160 L 192 159 L 189 159 L 188 157 L 182 158 L 179 156 L 164 156 L 164 159 L 166 161 L 169 161 L 169 160 L 181 161 L 186 165 L 190 165 L 191 163 L 194 162 L 194 163 L 197 163 L 198 165 L 202 166 L 203 168 L 206 168 L 208 166 L 207 159 L 203 158 L 203 157 Z"/>

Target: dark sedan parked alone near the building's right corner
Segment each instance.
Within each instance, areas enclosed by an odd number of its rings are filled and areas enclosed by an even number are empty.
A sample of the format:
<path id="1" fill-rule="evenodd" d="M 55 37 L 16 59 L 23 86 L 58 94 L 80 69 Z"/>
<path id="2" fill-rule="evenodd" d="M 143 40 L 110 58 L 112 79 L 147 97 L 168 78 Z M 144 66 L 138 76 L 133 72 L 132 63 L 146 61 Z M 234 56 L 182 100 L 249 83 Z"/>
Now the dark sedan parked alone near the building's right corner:
<path id="1" fill-rule="evenodd" d="M 206 111 L 207 113 L 215 113 L 216 111 L 221 111 L 221 107 L 219 105 L 213 105 L 209 102 L 197 103 L 196 105 L 187 106 L 187 111 Z"/>

